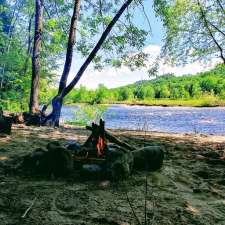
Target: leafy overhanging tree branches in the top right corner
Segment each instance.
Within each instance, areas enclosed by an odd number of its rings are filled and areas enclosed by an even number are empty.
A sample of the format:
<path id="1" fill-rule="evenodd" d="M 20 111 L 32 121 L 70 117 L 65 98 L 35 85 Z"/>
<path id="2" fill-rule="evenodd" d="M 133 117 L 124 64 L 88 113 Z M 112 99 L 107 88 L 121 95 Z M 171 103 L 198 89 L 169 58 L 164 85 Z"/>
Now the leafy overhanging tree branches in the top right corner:
<path id="1" fill-rule="evenodd" d="M 185 64 L 197 60 L 224 60 L 225 2 L 220 0 L 155 0 L 166 28 L 165 58 Z"/>

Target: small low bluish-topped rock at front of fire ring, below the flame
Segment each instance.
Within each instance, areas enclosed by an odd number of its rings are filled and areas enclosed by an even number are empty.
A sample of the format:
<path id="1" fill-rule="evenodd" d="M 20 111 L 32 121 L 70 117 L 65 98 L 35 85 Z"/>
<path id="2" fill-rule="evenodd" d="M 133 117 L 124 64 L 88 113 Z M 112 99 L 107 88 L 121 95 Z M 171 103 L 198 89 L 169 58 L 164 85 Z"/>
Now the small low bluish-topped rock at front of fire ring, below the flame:
<path id="1" fill-rule="evenodd" d="M 81 169 L 84 178 L 97 179 L 103 175 L 102 167 L 97 164 L 84 164 Z"/>

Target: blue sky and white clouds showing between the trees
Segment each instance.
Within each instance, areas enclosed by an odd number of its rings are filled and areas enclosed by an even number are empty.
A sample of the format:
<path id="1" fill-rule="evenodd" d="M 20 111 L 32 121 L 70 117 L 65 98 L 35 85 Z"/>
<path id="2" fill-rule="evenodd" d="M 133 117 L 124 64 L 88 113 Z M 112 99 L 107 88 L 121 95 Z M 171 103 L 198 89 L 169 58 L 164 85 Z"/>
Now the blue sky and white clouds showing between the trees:
<path id="1" fill-rule="evenodd" d="M 153 0 L 145 0 L 144 3 L 146 14 L 149 17 L 150 23 L 151 23 L 151 31 L 152 35 L 149 37 L 149 39 L 146 42 L 146 46 L 144 47 L 143 51 L 150 54 L 149 63 L 153 62 L 154 59 L 160 54 L 160 49 L 163 45 L 163 38 L 165 35 L 165 30 L 163 28 L 162 21 L 155 16 L 155 12 L 153 10 Z M 148 22 L 146 19 L 144 19 L 143 16 L 140 16 L 142 13 L 137 10 L 137 16 L 136 16 L 136 23 L 148 28 Z M 76 61 L 72 63 L 71 72 L 68 78 L 68 81 L 70 82 L 74 75 L 76 74 L 79 67 L 82 65 L 82 62 L 84 59 L 77 59 L 77 55 L 75 55 Z M 200 62 L 195 62 L 192 64 L 185 65 L 183 67 L 173 67 L 171 65 L 167 64 L 160 64 L 159 65 L 159 74 L 168 74 L 168 73 L 174 73 L 178 76 L 184 75 L 184 74 L 195 74 L 201 71 L 204 71 L 211 67 L 214 64 L 212 62 L 209 65 L 203 65 Z M 62 68 L 61 68 L 62 70 Z M 58 71 L 59 74 L 61 74 L 61 71 Z M 127 67 L 122 66 L 119 69 L 116 68 L 105 68 L 102 71 L 95 71 L 93 69 L 93 66 L 89 66 L 88 69 L 83 74 L 81 80 L 76 85 L 76 87 L 79 87 L 80 85 L 83 85 L 89 89 L 95 89 L 98 87 L 99 84 L 105 85 L 107 88 L 115 88 L 120 87 L 128 84 L 132 84 L 136 81 L 140 80 L 148 80 L 149 75 L 147 73 L 146 68 L 142 68 L 136 71 L 130 71 Z"/>

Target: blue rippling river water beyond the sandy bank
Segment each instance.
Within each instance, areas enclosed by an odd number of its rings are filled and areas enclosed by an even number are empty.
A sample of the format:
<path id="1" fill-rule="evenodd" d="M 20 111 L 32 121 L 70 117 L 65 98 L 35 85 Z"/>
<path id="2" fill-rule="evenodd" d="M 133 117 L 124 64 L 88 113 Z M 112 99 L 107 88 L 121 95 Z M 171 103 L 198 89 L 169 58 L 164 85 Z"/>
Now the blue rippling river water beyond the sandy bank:
<path id="1" fill-rule="evenodd" d="M 77 106 L 65 106 L 62 119 L 72 120 Z M 104 114 L 107 128 L 225 135 L 225 107 L 192 108 L 112 105 Z"/>

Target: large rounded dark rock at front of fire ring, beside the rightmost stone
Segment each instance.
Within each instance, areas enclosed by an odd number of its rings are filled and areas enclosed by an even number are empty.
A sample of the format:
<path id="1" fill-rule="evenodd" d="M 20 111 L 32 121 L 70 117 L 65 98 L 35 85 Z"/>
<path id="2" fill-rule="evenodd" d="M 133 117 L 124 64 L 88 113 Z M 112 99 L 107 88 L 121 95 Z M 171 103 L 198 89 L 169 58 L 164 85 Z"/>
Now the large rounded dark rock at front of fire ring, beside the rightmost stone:
<path id="1" fill-rule="evenodd" d="M 109 148 L 106 151 L 106 172 L 113 180 L 127 178 L 133 170 L 133 155 L 122 148 Z"/>

